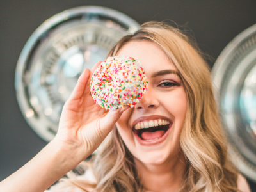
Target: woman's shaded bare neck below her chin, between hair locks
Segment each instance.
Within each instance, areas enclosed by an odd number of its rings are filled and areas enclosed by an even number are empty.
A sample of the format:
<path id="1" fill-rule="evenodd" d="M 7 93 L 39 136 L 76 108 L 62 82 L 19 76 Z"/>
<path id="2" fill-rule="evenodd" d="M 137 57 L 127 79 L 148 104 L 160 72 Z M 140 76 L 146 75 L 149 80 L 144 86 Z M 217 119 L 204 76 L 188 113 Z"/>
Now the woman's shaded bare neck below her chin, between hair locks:
<path id="1" fill-rule="evenodd" d="M 182 187 L 186 172 L 185 156 L 182 152 L 176 158 L 167 159 L 163 164 L 145 164 L 134 159 L 138 176 L 146 191 L 176 192 Z"/>

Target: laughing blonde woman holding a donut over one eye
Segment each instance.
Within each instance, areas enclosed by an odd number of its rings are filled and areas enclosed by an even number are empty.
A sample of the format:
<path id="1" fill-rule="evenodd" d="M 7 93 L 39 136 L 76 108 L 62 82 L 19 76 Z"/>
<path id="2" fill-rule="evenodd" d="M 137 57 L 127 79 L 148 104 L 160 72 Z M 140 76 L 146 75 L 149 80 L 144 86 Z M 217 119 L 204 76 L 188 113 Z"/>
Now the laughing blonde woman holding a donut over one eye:
<path id="1" fill-rule="evenodd" d="M 147 22 L 113 47 L 109 56 L 117 55 L 143 63 L 148 81 L 143 99 L 134 108 L 105 111 L 93 102 L 89 88 L 100 62 L 84 70 L 54 140 L 3 180 L 0 191 L 45 191 L 112 131 L 84 175 L 62 179 L 50 191 L 249 192 L 228 156 L 209 68 L 188 37 Z M 166 129 L 134 131 L 150 121 Z"/>

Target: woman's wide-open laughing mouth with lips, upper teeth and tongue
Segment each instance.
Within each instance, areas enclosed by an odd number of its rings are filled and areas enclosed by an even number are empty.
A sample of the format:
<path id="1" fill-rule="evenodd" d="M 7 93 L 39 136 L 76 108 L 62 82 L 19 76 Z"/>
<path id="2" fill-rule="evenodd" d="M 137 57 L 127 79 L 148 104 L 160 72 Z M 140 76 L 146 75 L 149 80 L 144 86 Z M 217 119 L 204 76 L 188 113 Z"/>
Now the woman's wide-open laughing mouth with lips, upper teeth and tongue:
<path id="1" fill-rule="evenodd" d="M 154 145 L 166 138 L 166 133 L 171 126 L 172 122 L 169 120 L 146 120 L 134 125 L 132 131 L 142 145 Z"/>

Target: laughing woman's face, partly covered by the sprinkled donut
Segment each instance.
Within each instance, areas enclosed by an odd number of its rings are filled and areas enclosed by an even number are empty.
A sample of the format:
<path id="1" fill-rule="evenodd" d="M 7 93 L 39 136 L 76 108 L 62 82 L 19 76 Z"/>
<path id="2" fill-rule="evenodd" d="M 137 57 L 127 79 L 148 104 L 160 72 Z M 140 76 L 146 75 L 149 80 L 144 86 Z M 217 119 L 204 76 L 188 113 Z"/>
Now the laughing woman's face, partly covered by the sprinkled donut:
<path id="1" fill-rule="evenodd" d="M 147 40 L 129 42 L 116 55 L 139 60 L 148 81 L 143 99 L 116 123 L 122 140 L 145 164 L 163 164 L 177 158 L 187 98 L 176 68 L 157 44 Z"/>

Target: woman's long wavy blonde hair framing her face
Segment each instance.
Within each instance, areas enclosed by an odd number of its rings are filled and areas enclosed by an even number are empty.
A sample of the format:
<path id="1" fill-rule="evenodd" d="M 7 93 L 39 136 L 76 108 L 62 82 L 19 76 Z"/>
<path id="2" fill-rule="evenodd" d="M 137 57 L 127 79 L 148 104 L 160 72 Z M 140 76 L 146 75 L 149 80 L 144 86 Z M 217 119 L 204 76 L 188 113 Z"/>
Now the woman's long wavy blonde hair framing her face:
<path id="1" fill-rule="evenodd" d="M 202 54 L 179 29 L 163 22 L 147 22 L 134 35 L 124 36 L 111 49 L 109 56 L 115 56 L 128 42 L 143 40 L 150 40 L 163 49 L 177 68 L 186 90 L 188 109 L 180 135 L 180 147 L 186 157 L 187 171 L 180 191 L 239 191 L 238 172 L 228 155 L 227 140 L 221 129 L 212 92 L 210 70 Z M 144 191 L 137 179 L 133 156 L 116 127 L 111 137 L 92 161 L 97 183 L 74 177 L 64 179 L 62 186 L 73 185 L 84 191 L 91 188 L 100 192 Z"/>

